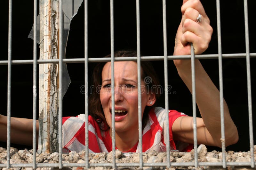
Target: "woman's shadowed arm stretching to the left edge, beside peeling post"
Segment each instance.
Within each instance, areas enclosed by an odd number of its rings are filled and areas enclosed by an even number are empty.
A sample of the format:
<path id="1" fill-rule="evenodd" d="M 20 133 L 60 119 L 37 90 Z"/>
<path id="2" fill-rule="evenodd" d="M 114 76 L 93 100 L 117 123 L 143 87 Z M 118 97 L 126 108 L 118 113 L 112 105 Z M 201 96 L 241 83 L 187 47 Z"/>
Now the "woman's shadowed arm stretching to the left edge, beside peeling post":
<path id="1" fill-rule="evenodd" d="M 0 115 L 0 129 L 0 141 L 6 142 L 7 117 L 4 115 Z M 36 137 L 38 138 L 38 120 L 36 120 Z M 32 145 L 33 119 L 11 117 L 11 143 Z"/>

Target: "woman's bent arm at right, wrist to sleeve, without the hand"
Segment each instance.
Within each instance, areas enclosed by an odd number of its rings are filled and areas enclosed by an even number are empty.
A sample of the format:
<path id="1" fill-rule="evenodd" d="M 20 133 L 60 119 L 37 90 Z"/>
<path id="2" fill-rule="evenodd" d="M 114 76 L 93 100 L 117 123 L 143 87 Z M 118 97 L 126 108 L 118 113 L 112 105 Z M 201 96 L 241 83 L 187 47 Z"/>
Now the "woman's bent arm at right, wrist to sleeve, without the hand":
<path id="1" fill-rule="evenodd" d="M 199 60 L 195 60 L 196 77 L 196 103 L 202 118 L 197 118 L 197 138 L 199 144 L 221 147 L 220 126 L 220 92 L 215 87 Z M 180 69 L 177 67 L 181 79 L 192 92 L 191 67 Z M 232 121 L 227 103 L 224 100 L 224 125 L 226 146 L 238 141 L 238 133 Z M 177 128 L 178 127 L 178 128 Z M 185 139 L 193 143 L 193 117 L 178 118 L 173 123 L 174 134 L 177 138 Z"/>

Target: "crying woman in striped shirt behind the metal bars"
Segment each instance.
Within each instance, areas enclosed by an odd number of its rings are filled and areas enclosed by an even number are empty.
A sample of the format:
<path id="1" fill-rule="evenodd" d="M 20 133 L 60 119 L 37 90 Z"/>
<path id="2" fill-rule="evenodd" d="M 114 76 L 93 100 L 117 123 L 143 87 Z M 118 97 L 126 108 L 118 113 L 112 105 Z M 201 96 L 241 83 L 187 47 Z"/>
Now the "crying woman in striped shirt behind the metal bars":
<path id="1" fill-rule="evenodd" d="M 176 34 L 174 55 L 189 55 L 193 43 L 195 54 L 203 53 L 211 40 L 212 27 L 199 0 L 184 0 L 181 7 L 182 19 Z M 115 55 L 136 56 L 134 53 L 118 52 Z M 177 71 L 192 91 L 190 60 L 174 60 Z M 147 91 L 143 78 L 150 76 L 152 84 L 157 85 L 153 69 L 145 62 L 141 64 L 141 85 L 145 93 L 141 94 L 141 110 L 143 113 L 143 152 L 150 149 L 164 151 L 163 140 L 165 120 L 163 109 L 154 108 L 157 93 Z M 197 118 L 198 144 L 221 147 L 220 133 L 220 94 L 205 72 L 199 60 L 195 60 L 196 103 L 202 118 Z M 90 97 L 89 117 L 89 149 L 91 152 L 109 152 L 111 145 L 111 65 L 110 62 L 99 64 L 94 71 L 94 85 L 100 85 Z M 132 61 L 115 62 L 115 127 L 116 148 L 123 152 L 136 152 L 138 144 L 138 92 L 137 64 Z M 144 84 L 143 84 L 144 83 Z M 143 89 L 144 88 L 144 89 Z M 176 149 L 174 141 L 193 143 L 193 117 L 171 110 L 170 144 Z M 155 119 L 154 119 L 155 118 Z M 226 146 L 238 140 L 238 133 L 232 121 L 228 106 L 224 101 L 225 142 Z M 84 149 L 84 115 L 63 118 L 63 147 L 68 150 Z M 154 125 L 154 127 L 152 127 Z M 1 133 L 6 133 L 6 117 L 0 117 Z M 12 142 L 30 144 L 32 142 L 32 121 L 30 119 L 12 118 Z M 156 130 L 155 132 L 153 132 Z M 163 135 L 159 135 L 163 134 Z M 2 138 L 4 134 L 0 134 Z M 18 134 L 18 135 L 17 135 Z M 20 136 L 19 136 L 20 135 Z M 146 136 L 147 137 L 146 137 Z M 145 140 L 146 139 L 146 140 Z M 1 139 L 6 140 L 6 139 Z M 23 141 L 24 140 L 24 141 Z M 148 140 L 152 140 L 148 142 Z M 182 148 L 184 149 L 184 148 Z M 188 150 L 188 148 L 187 148 Z"/>

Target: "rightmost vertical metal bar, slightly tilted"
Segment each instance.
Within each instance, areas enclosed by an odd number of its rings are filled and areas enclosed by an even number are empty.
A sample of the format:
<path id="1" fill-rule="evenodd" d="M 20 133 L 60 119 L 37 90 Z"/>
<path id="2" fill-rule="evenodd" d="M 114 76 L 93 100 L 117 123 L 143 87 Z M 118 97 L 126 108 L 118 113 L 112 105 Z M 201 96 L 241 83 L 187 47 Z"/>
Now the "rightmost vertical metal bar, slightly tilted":
<path id="1" fill-rule="evenodd" d="M 244 0 L 244 26 L 245 26 L 246 73 L 247 73 L 247 94 L 248 94 L 248 111 L 249 111 L 249 135 L 250 135 L 251 167 L 254 168 L 253 126 L 252 126 L 252 92 L 251 92 L 250 46 L 249 46 L 247 0 Z"/>

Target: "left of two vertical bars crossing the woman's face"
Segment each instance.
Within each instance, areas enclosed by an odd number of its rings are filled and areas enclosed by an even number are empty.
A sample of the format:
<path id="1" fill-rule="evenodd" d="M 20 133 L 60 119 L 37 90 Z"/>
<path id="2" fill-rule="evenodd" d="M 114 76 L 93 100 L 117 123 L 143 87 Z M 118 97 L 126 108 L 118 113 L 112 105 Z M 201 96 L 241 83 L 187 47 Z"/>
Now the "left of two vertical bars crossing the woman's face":
<path id="1" fill-rule="evenodd" d="M 110 48 L 111 48 L 111 121 L 112 121 L 112 168 L 116 168 L 116 131 L 115 131 L 115 76 L 114 76 L 114 0 L 110 0 Z"/>

